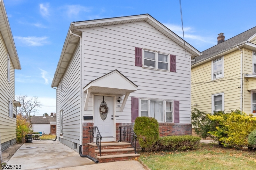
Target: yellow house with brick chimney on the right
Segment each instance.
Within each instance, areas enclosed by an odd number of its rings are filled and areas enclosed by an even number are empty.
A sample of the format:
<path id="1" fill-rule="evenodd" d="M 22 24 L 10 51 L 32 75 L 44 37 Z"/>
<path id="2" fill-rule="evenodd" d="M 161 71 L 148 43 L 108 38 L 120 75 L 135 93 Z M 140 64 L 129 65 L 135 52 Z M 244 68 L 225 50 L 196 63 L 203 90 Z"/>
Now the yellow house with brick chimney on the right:
<path id="1" fill-rule="evenodd" d="M 191 107 L 256 114 L 256 27 L 226 41 L 220 33 L 217 39 L 191 62 Z"/>

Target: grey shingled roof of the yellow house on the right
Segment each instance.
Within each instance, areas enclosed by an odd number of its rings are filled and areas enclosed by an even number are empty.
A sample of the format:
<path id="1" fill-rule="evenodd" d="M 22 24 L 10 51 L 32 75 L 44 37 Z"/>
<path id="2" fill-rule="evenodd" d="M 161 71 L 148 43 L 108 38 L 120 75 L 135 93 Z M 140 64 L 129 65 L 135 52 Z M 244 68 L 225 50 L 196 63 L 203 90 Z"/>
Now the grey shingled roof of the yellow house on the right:
<path id="1" fill-rule="evenodd" d="M 202 55 L 195 57 L 196 59 L 196 63 L 191 62 L 193 65 L 198 65 L 198 63 L 201 64 L 201 62 L 214 57 L 216 55 L 222 54 L 225 51 L 228 51 L 232 48 L 236 48 L 236 46 L 240 46 L 242 44 L 245 43 L 251 43 L 251 39 L 254 38 L 256 36 L 256 27 L 253 27 L 243 33 L 240 33 L 226 41 L 223 41 L 220 44 L 217 44 L 211 48 L 208 48 L 207 50 L 204 50 L 202 53 Z M 230 53 L 231 51 L 229 51 L 228 53 Z M 191 66 L 191 67 L 192 67 Z"/>

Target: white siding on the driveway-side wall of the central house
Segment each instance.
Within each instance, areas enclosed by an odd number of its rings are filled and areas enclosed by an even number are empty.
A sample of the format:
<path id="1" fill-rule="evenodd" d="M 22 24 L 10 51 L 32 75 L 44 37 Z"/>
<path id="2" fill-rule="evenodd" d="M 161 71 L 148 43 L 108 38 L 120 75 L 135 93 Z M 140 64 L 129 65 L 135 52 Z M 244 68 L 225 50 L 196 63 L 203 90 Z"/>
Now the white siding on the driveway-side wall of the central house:
<path id="1" fill-rule="evenodd" d="M 60 137 L 60 111 L 62 111 L 62 134 L 61 138 L 80 143 L 80 48 L 79 43 L 75 47 L 67 70 L 57 90 L 57 131 Z"/>

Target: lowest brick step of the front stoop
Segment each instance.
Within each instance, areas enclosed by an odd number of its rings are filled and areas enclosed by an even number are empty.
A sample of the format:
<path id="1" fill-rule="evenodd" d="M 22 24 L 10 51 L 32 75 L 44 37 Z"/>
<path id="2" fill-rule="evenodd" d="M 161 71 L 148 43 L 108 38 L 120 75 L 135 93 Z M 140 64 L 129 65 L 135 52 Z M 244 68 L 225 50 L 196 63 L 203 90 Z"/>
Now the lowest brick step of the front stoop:
<path id="1" fill-rule="evenodd" d="M 116 161 L 123 161 L 123 160 L 130 160 L 136 157 L 139 157 L 140 154 L 138 153 L 129 153 L 129 154 L 119 154 L 119 155 L 104 155 L 104 156 L 97 156 L 97 160 L 100 163 L 104 162 L 116 162 Z"/>

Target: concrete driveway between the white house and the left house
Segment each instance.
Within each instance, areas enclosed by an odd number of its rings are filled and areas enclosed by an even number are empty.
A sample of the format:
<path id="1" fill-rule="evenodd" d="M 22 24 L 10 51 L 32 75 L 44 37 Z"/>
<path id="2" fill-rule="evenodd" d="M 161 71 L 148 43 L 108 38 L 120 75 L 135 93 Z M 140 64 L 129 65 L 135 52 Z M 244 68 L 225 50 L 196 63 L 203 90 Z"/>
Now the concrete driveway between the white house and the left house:
<path id="1" fill-rule="evenodd" d="M 45 170 L 95 163 L 57 141 L 33 140 L 23 144 L 7 164 L 21 165 L 21 170 Z"/>

